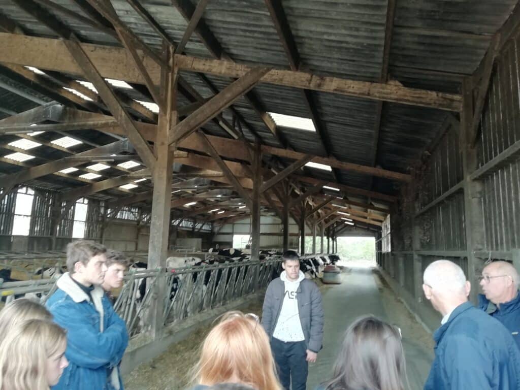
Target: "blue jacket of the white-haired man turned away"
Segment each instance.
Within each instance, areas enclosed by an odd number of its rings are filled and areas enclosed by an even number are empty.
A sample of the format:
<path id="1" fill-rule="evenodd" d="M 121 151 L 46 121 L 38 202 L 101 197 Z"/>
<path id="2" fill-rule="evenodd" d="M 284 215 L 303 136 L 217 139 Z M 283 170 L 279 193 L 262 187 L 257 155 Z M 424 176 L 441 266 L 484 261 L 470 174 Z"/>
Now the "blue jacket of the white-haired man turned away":
<path id="1" fill-rule="evenodd" d="M 511 333 L 471 302 L 453 310 L 433 338 L 424 390 L 520 389 L 520 350 Z"/>

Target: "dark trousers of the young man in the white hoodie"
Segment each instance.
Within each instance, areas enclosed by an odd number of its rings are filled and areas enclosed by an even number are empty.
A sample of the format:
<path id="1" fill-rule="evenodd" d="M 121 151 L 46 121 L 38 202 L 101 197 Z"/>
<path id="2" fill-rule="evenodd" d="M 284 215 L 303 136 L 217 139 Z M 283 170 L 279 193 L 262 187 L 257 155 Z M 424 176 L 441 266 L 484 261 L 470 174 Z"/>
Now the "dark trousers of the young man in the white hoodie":
<path id="1" fill-rule="evenodd" d="M 309 364 L 305 341 L 284 343 L 271 338 L 271 350 L 275 357 L 278 378 L 285 390 L 305 390 Z"/>

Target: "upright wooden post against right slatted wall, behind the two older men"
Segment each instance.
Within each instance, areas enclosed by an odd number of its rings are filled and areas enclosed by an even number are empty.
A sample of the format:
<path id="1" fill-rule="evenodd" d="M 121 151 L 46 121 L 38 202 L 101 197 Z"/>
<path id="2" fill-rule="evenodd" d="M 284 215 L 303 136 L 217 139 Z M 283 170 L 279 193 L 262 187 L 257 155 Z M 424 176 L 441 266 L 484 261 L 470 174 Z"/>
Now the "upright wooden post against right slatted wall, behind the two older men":
<path id="1" fill-rule="evenodd" d="M 471 174 L 478 167 L 477 149 L 472 147 L 473 86 L 470 79 L 462 82 L 463 108 L 461 113 L 461 147 L 464 174 L 464 216 L 467 245 L 467 280 L 476 286 L 476 270 L 481 262 L 475 251 L 484 249 L 484 216 L 482 214 L 482 190 L 480 180 L 472 180 Z M 478 289 L 472 289 L 470 298 L 476 303 Z"/>

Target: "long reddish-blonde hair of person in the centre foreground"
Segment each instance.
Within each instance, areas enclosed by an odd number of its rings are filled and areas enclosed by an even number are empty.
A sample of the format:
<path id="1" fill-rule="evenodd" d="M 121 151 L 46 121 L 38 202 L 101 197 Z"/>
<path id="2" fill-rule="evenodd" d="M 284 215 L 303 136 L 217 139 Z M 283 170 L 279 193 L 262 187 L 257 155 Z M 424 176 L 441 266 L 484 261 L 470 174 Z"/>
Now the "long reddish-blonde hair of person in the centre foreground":
<path id="1" fill-rule="evenodd" d="M 269 338 L 257 318 L 229 311 L 202 344 L 195 380 L 207 386 L 238 379 L 258 390 L 281 390 Z"/>

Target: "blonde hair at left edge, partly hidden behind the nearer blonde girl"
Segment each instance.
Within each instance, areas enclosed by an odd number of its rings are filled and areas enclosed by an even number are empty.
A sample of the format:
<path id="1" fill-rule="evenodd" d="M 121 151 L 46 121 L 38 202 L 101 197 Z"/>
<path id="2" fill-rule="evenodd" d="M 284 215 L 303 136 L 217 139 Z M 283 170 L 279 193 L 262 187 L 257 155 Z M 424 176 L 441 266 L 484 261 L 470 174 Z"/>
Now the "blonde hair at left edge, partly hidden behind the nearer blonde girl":
<path id="1" fill-rule="evenodd" d="M 53 315 L 45 306 L 27 298 L 19 298 L 5 305 L 0 310 L 0 343 L 12 329 L 31 319 L 52 321 Z"/>

